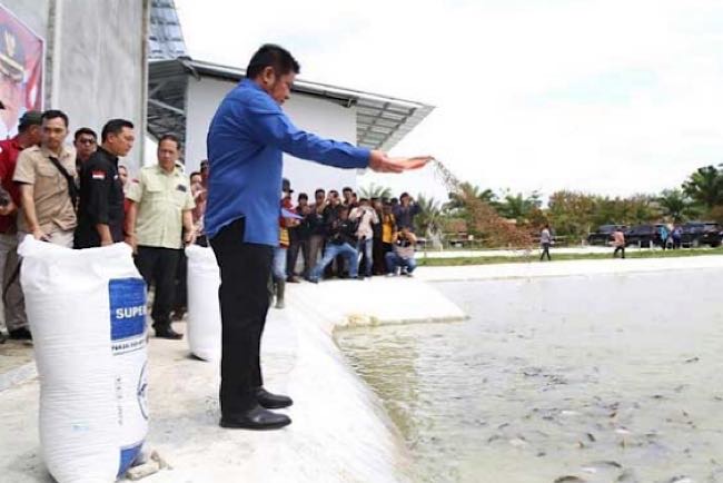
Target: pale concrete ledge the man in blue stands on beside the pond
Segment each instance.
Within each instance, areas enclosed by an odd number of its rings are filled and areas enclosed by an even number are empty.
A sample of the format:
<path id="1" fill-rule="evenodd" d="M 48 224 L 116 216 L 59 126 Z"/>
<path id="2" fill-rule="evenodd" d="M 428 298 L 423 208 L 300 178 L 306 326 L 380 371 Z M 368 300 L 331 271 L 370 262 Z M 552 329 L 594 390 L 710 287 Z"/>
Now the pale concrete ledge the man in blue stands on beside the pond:
<path id="1" fill-rule="evenodd" d="M 287 308 L 269 312 L 263 343 L 265 385 L 295 400 L 286 411 L 294 423 L 274 432 L 220 428 L 218 364 L 190 357 L 186 341 L 151 338 L 145 447 L 172 469 L 143 481 L 410 481 L 402 437 L 333 334 L 349 326 L 463 317 L 416 278 L 288 284 Z M 185 332 L 186 324 L 175 328 Z M 0 392 L 0 441 L 12 441 L 0 452 L 3 481 L 50 481 L 40 459 L 38 397 L 37 382 Z"/>

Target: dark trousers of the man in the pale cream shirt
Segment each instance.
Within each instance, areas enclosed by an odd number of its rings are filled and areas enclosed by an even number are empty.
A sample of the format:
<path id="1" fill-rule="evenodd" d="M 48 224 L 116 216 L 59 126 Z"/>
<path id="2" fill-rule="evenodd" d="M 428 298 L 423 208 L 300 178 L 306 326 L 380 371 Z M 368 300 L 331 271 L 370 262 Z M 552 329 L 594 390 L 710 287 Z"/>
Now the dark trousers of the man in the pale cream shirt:
<path id="1" fill-rule="evenodd" d="M 170 327 L 170 310 L 174 306 L 176 270 L 181 250 L 174 248 L 139 246 L 136 254 L 138 272 L 150 288 L 156 287 L 153 309 L 150 316 L 153 328 Z"/>

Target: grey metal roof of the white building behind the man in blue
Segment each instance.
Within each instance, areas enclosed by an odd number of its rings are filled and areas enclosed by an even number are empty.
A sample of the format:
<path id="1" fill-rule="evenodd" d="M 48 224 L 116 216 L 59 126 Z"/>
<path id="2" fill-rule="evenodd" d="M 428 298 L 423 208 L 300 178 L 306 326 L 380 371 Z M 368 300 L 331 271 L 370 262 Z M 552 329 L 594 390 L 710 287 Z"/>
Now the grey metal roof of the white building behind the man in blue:
<path id="1" fill-rule="evenodd" d="M 151 60 L 148 76 L 148 130 L 185 134 L 188 77 L 212 77 L 238 82 L 245 69 L 192 60 L 188 57 Z M 360 90 L 297 79 L 293 91 L 323 98 L 345 107 L 356 107 L 358 146 L 392 149 L 432 112 L 433 106 Z M 184 136 L 185 137 L 185 136 Z"/>

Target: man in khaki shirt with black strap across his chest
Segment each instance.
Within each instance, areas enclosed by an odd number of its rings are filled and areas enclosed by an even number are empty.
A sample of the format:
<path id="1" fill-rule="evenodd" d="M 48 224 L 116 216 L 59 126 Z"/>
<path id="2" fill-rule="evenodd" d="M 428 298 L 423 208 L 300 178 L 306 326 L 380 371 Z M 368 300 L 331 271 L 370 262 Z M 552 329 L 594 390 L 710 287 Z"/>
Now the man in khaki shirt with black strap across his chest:
<path id="1" fill-rule="evenodd" d="M 67 136 L 68 116 L 59 110 L 44 111 L 40 146 L 20 152 L 12 179 L 20 185 L 19 236 L 31 234 L 36 239 L 72 248 L 76 151 L 65 146 Z"/>

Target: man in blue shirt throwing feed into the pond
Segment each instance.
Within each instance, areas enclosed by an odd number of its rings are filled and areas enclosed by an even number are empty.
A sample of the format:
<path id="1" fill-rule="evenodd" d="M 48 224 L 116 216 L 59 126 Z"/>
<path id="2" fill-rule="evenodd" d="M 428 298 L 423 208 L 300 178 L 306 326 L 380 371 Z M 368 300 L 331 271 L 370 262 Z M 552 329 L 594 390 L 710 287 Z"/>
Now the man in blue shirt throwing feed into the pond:
<path id="1" fill-rule="evenodd" d="M 337 168 L 402 172 L 429 158 L 390 159 L 377 150 L 319 138 L 281 110 L 299 65 L 278 46 L 263 46 L 246 76 L 221 101 L 208 131 L 206 234 L 220 268 L 222 427 L 271 430 L 291 422 L 268 410 L 293 404 L 264 388 L 259 346 L 278 244 L 283 152 Z"/>

